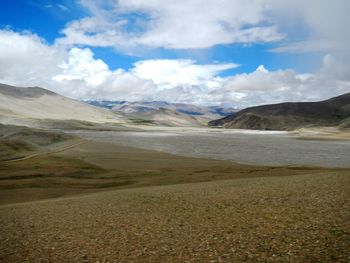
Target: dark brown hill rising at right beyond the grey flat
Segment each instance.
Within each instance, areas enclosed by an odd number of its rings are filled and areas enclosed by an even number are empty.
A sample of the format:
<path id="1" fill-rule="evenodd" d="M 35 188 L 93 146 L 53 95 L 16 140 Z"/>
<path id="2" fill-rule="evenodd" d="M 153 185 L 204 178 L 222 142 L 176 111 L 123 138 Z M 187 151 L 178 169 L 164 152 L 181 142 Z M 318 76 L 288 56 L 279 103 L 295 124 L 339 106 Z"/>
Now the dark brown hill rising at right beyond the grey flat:
<path id="1" fill-rule="evenodd" d="M 350 93 L 319 102 L 286 102 L 246 108 L 209 126 L 292 130 L 312 126 L 350 127 Z"/>

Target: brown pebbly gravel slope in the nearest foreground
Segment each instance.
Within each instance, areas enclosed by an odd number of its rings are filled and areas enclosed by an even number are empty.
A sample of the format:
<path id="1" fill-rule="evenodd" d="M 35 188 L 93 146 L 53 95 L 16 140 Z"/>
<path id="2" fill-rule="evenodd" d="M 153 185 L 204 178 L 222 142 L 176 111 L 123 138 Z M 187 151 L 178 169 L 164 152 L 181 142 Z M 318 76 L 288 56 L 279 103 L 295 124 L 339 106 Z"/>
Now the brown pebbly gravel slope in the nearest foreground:
<path id="1" fill-rule="evenodd" d="M 0 207 L 0 262 L 349 262 L 350 174 L 148 187 Z"/>

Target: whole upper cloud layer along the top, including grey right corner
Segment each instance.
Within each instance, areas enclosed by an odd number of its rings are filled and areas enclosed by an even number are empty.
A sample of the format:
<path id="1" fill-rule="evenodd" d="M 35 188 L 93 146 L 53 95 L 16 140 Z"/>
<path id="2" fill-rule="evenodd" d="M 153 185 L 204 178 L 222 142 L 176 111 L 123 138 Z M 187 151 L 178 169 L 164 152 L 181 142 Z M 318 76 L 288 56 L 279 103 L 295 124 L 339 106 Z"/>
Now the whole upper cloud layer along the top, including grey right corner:
<path id="1" fill-rule="evenodd" d="M 80 3 L 90 15 L 69 23 L 58 43 L 134 51 L 140 47 L 198 49 L 219 44 L 277 42 L 280 46 L 274 52 L 350 53 L 350 34 L 346 33 L 350 23 L 348 0 Z"/>

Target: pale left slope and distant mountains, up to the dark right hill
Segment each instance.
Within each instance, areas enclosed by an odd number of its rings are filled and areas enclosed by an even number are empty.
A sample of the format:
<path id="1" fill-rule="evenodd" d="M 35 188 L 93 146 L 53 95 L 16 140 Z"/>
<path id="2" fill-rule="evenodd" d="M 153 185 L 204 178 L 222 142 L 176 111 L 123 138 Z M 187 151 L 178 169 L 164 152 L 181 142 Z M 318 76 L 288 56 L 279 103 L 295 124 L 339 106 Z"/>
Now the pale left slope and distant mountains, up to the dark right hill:
<path id="1" fill-rule="evenodd" d="M 39 87 L 0 84 L 0 123 L 54 128 L 86 127 L 88 123 L 197 127 L 207 126 L 225 111 L 232 112 L 167 102 L 86 102 Z"/>

